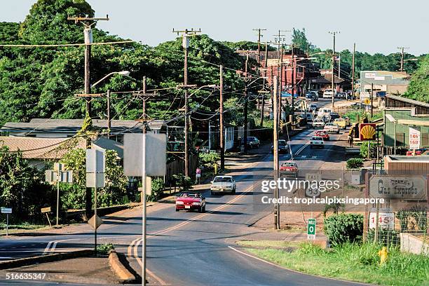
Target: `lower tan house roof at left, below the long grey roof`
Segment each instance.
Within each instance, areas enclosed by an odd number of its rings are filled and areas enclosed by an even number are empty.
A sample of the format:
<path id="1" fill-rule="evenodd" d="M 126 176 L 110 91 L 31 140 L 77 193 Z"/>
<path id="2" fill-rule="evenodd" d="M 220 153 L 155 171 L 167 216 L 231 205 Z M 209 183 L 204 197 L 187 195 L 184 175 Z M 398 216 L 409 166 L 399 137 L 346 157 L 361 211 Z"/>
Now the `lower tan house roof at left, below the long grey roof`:
<path id="1" fill-rule="evenodd" d="M 72 147 L 67 143 L 75 139 Z M 9 151 L 22 151 L 22 156 L 26 159 L 60 159 L 73 148 L 86 149 L 85 138 L 39 138 L 20 136 L 0 136 L 0 146 L 6 145 Z M 92 143 L 93 148 L 114 150 L 118 153 L 118 158 L 123 158 L 123 144 L 111 139 L 98 138 Z"/>

